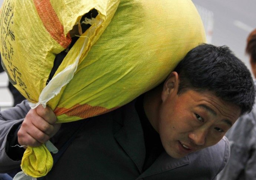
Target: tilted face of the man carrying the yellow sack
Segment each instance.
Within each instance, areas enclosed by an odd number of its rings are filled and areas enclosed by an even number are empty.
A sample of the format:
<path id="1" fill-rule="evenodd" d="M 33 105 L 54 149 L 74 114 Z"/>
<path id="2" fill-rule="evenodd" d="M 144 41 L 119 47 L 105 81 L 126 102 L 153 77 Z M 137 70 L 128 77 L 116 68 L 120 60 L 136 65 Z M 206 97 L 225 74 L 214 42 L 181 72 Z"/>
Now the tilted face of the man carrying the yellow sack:
<path id="1" fill-rule="evenodd" d="M 158 132 L 166 152 L 181 158 L 218 143 L 239 115 L 237 106 L 211 92 L 170 90 L 162 95 Z"/>

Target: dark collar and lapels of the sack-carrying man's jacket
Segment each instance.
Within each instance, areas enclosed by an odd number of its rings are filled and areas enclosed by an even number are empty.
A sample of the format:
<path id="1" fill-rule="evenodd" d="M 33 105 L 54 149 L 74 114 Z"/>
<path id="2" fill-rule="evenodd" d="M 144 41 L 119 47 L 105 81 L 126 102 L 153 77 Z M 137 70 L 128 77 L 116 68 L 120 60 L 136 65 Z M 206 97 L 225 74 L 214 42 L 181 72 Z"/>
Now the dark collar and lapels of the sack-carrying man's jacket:
<path id="1" fill-rule="evenodd" d="M 139 178 L 158 174 L 168 171 L 179 166 L 189 164 L 189 157 L 185 156 L 181 159 L 174 159 L 166 152 L 163 152 L 157 160 L 150 166 L 149 169 L 142 173 L 142 168 L 145 160 L 145 142 L 143 129 L 135 109 L 135 101 L 121 107 L 121 118 L 115 120 L 121 125 L 121 128 L 114 134 L 115 139 L 136 164 L 141 175 Z"/>

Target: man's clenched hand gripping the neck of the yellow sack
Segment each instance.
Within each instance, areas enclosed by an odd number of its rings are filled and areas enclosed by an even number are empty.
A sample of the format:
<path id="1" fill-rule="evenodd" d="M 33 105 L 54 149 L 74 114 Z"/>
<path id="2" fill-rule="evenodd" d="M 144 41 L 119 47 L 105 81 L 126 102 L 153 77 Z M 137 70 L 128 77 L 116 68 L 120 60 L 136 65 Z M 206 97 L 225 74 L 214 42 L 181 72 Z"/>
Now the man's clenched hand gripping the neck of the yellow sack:
<path id="1" fill-rule="evenodd" d="M 43 108 L 39 105 L 30 109 L 18 131 L 19 145 L 36 147 L 47 142 L 61 127 L 61 124 L 55 124 L 56 120 L 53 110 L 49 107 Z"/>

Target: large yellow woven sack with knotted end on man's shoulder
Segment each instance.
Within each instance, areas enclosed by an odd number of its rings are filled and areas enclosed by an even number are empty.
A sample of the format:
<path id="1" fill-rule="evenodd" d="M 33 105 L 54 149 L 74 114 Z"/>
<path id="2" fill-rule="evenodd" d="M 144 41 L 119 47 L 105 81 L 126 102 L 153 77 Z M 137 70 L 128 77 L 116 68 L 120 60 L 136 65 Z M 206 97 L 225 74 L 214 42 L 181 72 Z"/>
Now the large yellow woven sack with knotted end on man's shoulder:
<path id="1" fill-rule="evenodd" d="M 91 9 L 97 17 L 85 20 L 91 27 L 46 86 L 56 54 L 69 47 L 70 30 Z M 30 102 L 50 106 L 58 123 L 128 103 L 157 86 L 189 50 L 205 42 L 191 0 L 5 0 L 0 29 L 2 64 L 10 81 Z M 51 166 L 45 145 L 27 148 L 26 174 L 41 177 Z"/>

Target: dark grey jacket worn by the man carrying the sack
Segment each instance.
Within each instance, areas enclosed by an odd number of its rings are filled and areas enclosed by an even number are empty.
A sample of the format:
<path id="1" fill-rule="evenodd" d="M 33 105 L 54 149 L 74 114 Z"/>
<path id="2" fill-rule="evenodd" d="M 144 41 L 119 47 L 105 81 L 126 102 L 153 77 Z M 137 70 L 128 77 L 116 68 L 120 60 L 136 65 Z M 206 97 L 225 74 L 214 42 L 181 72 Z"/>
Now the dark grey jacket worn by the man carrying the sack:
<path id="1" fill-rule="evenodd" d="M 21 118 L 28 110 L 27 103 L 23 102 L 0 113 L 0 172 L 21 163 L 7 156 L 6 136 L 11 127 L 22 122 Z M 63 141 L 61 136 L 53 143 L 58 146 L 59 141 Z M 229 143 L 224 137 L 216 145 L 181 159 L 174 159 L 163 152 L 142 172 L 145 158 L 143 129 L 132 101 L 117 110 L 85 120 L 82 131 L 48 173 L 46 180 L 213 180 L 226 165 L 229 155 Z"/>

